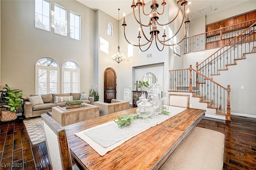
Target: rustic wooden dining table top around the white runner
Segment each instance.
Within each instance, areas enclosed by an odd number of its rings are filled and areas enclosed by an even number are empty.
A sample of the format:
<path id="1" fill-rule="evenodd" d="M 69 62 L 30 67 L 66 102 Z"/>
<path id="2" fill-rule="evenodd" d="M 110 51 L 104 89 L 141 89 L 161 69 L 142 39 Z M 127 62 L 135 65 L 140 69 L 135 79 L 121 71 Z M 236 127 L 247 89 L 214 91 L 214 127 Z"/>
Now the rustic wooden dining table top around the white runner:
<path id="1" fill-rule="evenodd" d="M 116 120 L 116 116 L 134 113 L 136 113 L 136 108 L 64 126 L 70 152 L 82 168 L 87 170 L 158 170 L 203 118 L 205 110 L 188 108 L 130 138 L 104 156 L 100 156 L 84 140 L 74 134 Z"/>

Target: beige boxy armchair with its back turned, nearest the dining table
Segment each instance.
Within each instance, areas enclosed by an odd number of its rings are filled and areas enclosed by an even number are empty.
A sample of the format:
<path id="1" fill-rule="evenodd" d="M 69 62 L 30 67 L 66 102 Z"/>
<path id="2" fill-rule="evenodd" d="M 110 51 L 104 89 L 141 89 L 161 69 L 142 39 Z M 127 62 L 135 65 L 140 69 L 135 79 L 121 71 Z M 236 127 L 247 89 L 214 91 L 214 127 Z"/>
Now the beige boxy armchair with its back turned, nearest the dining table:
<path id="1" fill-rule="evenodd" d="M 61 126 L 67 126 L 99 116 L 100 108 L 87 103 L 82 103 L 80 108 L 72 109 L 65 109 L 60 106 L 52 107 L 52 119 Z"/>

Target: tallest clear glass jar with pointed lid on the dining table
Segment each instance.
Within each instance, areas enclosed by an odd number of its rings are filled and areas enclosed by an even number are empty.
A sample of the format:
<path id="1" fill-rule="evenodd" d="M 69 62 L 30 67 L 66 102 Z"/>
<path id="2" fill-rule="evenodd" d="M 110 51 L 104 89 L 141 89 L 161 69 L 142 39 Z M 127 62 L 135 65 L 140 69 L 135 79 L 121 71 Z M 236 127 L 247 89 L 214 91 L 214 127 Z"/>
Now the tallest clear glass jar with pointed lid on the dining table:
<path id="1" fill-rule="evenodd" d="M 156 78 L 156 83 L 152 87 L 152 108 L 154 110 L 155 116 L 162 112 L 162 87 L 159 86 L 158 79 Z"/>

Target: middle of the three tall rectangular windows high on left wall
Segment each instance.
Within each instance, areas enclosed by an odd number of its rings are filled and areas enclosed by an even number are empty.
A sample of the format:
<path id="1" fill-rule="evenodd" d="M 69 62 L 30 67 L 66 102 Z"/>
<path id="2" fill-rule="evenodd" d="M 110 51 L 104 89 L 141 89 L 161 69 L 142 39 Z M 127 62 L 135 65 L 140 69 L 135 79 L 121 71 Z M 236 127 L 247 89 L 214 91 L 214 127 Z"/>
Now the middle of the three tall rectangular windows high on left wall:
<path id="1" fill-rule="evenodd" d="M 67 36 L 67 9 L 54 4 L 54 33 Z"/>

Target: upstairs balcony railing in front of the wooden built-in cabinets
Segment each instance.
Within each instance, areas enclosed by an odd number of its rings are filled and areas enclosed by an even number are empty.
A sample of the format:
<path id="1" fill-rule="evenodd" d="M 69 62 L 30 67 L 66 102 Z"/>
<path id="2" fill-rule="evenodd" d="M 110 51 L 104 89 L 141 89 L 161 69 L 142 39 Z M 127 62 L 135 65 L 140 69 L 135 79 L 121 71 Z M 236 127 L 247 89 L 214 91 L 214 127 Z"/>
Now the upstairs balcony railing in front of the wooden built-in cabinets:
<path id="1" fill-rule="evenodd" d="M 238 34 L 246 30 L 250 26 L 255 26 L 256 19 L 235 24 L 232 26 L 222 27 L 219 29 L 191 36 L 184 39 L 185 53 L 208 50 L 212 48 L 222 47 L 224 44 L 232 40 Z M 254 34 L 251 36 L 255 37 Z M 243 35 L 244 36 L 244 35 Z M 250 38 L 252 40 L 252 37 Z M 249 38 L 245 40 L 248 42 Z"/>

